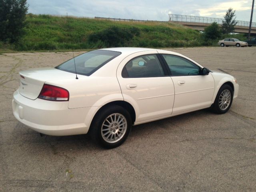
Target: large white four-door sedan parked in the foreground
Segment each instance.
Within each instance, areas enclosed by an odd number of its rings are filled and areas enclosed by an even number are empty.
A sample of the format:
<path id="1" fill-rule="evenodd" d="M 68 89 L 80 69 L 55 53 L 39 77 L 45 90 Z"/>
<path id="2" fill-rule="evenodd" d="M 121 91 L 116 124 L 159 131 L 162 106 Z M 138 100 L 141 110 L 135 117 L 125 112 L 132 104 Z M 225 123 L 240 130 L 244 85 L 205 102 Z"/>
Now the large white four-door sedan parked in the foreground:
<path id="1" fill-rule="evenodd" d="M 106 148 L 122 144 L 132 125 L 211 108 L 227 112 L 236 79 L 166 50 L 106 48 L 55 68 L 20 72 L 14 116 L 42 134 L 90 133 Z"/>

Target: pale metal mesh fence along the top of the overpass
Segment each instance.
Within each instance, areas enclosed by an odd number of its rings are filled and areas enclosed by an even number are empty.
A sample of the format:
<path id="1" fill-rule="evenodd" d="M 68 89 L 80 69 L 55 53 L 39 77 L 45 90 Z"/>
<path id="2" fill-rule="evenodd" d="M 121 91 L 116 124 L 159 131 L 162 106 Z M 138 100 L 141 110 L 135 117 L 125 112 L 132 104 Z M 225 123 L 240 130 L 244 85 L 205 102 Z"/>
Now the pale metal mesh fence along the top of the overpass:
<path id="1" fill-rule="evenodd" d="M 169 14 L 169 21 L 179 21 L 179 22 L 195 22 L 195 23 L 213 23 L 222 24 L 224 19 L 220 18 L 211 18 L 211 17 L 200 17 L 200 16 L 190 16 L 190 15 L 178 15 L 178 14 Z M 237 26 L 246 26 L 249 27 L 250 22 L 236 20 Z M 252 22 L 252 27 L 256 27 L 256 23 Z"/>

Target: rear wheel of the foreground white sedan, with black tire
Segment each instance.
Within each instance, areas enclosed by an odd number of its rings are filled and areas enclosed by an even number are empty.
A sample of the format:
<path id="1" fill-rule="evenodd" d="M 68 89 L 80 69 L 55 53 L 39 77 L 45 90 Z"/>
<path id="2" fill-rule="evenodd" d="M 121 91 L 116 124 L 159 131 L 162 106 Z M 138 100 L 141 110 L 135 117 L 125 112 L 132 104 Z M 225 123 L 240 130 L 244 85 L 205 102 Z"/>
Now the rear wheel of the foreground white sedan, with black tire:
<path id="1" fill-rule="evenodd" d="M 124 120 L 120 123 L 121 124 L 120 126 L 119 126 L 119 123 L 118 125 L 114 124 L 115 121 L 113 121 L 113 119 L 112 119 L 113 124 L 107 123 L 107 120 L 111 122 L 110 119 L 115 114 L 116 116 L 120 115 L 121 119 L 124 118 Z M 118 120 L 116 121 L 118 122 Z M 107 123 L 109 127 L 105 126 L 104 122 L 105 124 Z M 123 123 L 124 125 L 122 125 Z M 124 128 L 125 124 L 126 124 L 126 129 Z M 97 144 L 100 144 L 103 148 L 109 149 L 109 148 L 115 148 L 120 146 L 128 137 L 131 127 L 132 127 L 132 119 L 129 112 L 121 106 L 112 105 L 112 106 L 107 106 L 100 109 L 100 111 L 96 114 L 96 116 L 92 120 L 92 124 L 90 126 L 89 132 L 94 142 L 96 142 Z M 110 131 L 110 128 L 111 128 L 111 131 Z M 109 129 L 109 130 L 104 130 L 104 129 Z M 103 136 L 104 134 L 106 134 L 106 136 Z M 117 138 L 118 134 L 120 134 L 119 138 Z M 114 138 L 112 135 L 114 136 Z M 108 136 L 110 138 L 106 138 Z M 116 139 L 117 141 L 114 141 L 112 139 Z"/>

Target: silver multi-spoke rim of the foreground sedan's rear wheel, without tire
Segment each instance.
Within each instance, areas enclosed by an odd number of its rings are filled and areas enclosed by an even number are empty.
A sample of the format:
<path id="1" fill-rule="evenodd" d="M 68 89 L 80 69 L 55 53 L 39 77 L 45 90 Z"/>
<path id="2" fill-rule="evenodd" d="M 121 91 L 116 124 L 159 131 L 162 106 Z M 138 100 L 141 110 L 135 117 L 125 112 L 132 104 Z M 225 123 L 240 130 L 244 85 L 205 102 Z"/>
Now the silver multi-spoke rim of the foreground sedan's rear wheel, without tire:
<path id="1" fill-rule="evenodd" d="M 102 123 L 101 136 L 108 143 L 115 143 L 124 137 L 127 130 L 126 118 L 120 113 L 113 113 Z"/>

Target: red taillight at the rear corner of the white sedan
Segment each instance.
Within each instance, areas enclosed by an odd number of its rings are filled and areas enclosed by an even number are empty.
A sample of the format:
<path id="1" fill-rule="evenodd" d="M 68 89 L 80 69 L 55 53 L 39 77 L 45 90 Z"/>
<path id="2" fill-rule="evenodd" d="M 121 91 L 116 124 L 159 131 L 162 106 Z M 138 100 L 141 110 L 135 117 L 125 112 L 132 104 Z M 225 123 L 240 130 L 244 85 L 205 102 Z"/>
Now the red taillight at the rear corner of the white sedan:
<path id="1" fill-rule="evenodd" d="M 44 84 L 38 98 L 51 101 L 68 101 L 69 92 L 61 87 Z"/>

